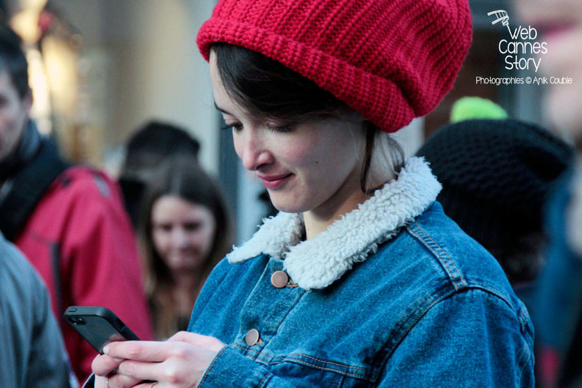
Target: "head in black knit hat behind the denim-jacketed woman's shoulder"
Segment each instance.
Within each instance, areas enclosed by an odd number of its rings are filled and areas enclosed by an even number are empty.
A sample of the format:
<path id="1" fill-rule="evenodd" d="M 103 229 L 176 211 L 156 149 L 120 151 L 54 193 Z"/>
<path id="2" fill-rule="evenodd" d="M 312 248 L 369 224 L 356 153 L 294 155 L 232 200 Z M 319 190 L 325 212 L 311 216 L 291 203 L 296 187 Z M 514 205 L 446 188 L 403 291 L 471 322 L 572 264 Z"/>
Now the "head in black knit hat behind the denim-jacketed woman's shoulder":
<path id="1" fill-rule="evenodd" d="M 512 286 L 535 279 L 544 201 L 572 148 L 537 125 L 479 119 L 442 127 L 417 155 L 443 184 L 445 213 L 497 258 Z"/>

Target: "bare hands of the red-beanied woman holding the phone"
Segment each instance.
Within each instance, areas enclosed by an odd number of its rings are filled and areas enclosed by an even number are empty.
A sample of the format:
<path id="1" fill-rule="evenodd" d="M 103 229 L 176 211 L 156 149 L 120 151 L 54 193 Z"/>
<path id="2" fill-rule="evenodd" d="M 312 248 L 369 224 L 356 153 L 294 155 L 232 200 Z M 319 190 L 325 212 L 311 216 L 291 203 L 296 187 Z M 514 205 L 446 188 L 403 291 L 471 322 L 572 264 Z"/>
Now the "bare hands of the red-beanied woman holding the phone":
<path id="1" fill-rule="evenodd" d="M 93 361 L 95 388 L 151 387 L 144 380 L 155 381 L 155 388 L 195 387 L 222 347 L 214 337 L 189 332 L 164 342 L 112 342 Z"/>

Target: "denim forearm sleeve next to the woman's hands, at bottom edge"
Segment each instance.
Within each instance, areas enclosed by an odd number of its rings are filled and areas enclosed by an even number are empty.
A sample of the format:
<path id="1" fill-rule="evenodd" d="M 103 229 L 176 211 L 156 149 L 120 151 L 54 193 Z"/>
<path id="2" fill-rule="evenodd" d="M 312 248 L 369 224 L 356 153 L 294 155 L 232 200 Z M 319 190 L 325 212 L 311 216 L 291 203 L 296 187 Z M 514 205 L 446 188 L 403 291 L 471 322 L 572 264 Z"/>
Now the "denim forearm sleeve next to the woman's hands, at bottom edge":
<path id="1" fill-rule="evenodd" d="M 210 363 L 197 388 L 293 388 L 289 382 L 277 378 L 268 369 L 225 346 Z"/>

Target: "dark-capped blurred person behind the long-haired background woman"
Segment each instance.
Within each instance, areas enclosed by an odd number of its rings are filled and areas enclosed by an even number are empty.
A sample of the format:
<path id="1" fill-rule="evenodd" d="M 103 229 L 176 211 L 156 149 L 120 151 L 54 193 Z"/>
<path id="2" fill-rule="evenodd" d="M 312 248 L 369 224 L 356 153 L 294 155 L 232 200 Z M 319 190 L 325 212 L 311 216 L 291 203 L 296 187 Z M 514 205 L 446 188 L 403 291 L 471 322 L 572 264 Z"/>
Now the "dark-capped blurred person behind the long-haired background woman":
<path id="1" fill-rule="evenodd" d="M 128 139 L 118 182 L 136 230 L 141 201 L 155 169 L 175 155 L 190 156 L 197 164 L 199 150 L 200 143 L 185 129 L 162 121 L 149 121 Z"/>

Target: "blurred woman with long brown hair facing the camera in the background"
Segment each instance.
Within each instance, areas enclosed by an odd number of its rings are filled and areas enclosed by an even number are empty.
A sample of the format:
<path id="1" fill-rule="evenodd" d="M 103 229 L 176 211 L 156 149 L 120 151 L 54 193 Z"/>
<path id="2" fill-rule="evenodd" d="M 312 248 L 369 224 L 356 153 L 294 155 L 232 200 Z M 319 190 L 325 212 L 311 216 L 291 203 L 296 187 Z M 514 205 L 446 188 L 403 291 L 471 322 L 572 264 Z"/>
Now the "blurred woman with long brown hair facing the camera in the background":
<path id="1" fill-rule="evenodd" d="M 167 160 L 152 176 L 139 228 L 156 339 L 187 329 L 213 267 L 231 249 L 222 192 L 192 157 Z"/>

